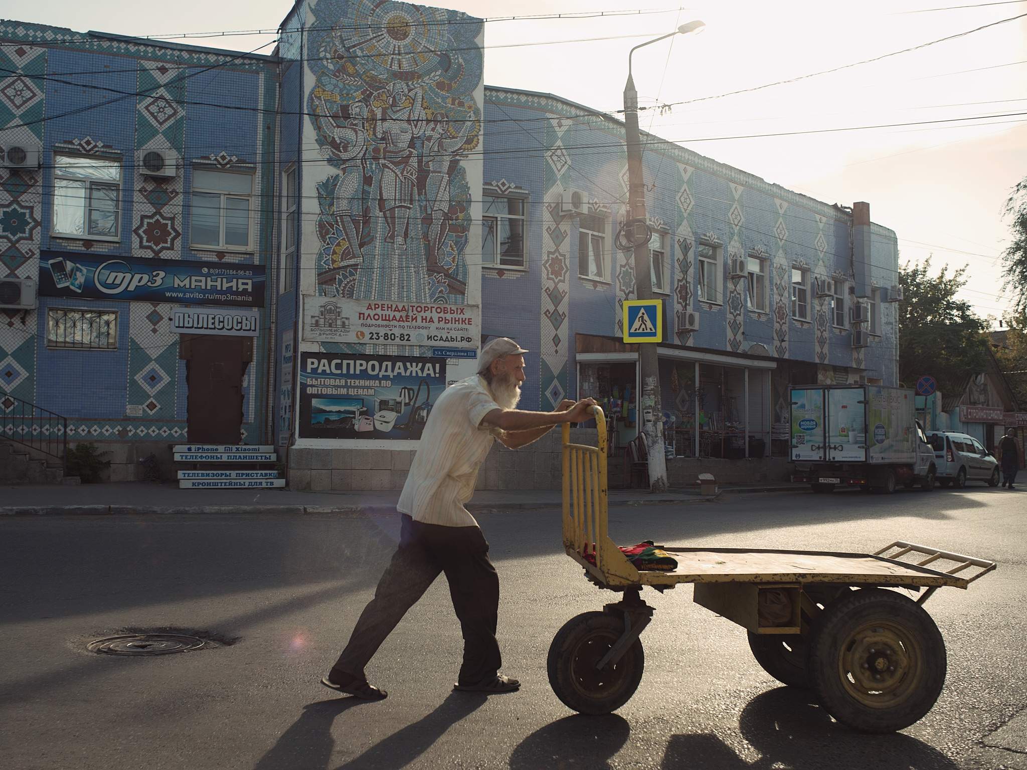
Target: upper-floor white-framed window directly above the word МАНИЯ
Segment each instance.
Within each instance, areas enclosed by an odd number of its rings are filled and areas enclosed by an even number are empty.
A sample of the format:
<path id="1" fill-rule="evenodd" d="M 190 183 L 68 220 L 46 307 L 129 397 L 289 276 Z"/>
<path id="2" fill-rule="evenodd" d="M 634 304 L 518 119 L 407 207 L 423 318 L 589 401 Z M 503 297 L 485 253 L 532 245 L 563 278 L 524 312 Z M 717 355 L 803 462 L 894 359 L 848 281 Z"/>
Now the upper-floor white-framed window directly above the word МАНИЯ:
<path id="1" fill-rule="evenodd" d="M 191 243 L 199 248 L 250 248 L 252 174 L 193 170 Z"/>

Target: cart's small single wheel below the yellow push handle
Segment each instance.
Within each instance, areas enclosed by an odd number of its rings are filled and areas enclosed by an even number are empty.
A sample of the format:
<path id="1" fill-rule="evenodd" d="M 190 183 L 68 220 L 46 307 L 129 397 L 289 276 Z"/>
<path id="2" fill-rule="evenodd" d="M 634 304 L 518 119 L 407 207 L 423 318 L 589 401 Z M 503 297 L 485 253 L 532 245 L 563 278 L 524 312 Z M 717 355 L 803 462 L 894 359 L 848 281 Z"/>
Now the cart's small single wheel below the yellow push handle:
<path id="1" fill-rule="evenodd" d="M 623 631 L 623 618 L 605 612 L 582 613 L 557 631 L 545 667 L 564 705 L 578 714 L 610 714 L 631 700 L 645 667 L 641 641 L 635 640 L 615 664 L 596 668 Z"/>

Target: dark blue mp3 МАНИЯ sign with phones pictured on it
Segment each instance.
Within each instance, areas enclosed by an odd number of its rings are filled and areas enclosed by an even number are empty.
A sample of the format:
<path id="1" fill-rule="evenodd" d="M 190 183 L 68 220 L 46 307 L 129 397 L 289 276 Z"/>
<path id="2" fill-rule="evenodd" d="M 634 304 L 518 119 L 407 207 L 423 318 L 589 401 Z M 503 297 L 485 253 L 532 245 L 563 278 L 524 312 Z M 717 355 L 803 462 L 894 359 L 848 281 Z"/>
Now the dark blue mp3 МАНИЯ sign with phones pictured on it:
<path id="1" fill-rule="evenodd" d="M 265 283 L 262 265 L 56 252 L 39 260 L 44 297 L 262 307 Z"/>

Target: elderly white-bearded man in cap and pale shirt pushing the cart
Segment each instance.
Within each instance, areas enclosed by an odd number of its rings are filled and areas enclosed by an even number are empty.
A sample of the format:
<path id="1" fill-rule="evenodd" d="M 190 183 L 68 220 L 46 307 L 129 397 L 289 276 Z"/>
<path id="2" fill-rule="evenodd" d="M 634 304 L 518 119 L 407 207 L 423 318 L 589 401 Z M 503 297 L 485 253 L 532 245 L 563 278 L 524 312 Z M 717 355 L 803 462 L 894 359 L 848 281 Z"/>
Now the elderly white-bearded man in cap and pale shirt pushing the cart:
<path id="1" fill-rule="evenodd" d="M 499 578 L 489 561 L 489 544 L 464 504 L 495 438 L 510 449 L 524 447 L 556 425 L 587 420 L 596 403 L 584 398 L 565 400 L 554 412 L 517 410 L 527 352 L 506 337 L 491 341 L 482 348 L 479 374 L 439 397 L 396 506 L 403 515 L 400 546 L 349 644 L 321 679 L 326 687 L 367 700 L 384 698 L 384 690 L 368 683 L 365 666 L 444 572 L 463 631 L 463 664 L 454 689 L 500 693 L 520 688 L 516 679 L 499 673 Z"/>

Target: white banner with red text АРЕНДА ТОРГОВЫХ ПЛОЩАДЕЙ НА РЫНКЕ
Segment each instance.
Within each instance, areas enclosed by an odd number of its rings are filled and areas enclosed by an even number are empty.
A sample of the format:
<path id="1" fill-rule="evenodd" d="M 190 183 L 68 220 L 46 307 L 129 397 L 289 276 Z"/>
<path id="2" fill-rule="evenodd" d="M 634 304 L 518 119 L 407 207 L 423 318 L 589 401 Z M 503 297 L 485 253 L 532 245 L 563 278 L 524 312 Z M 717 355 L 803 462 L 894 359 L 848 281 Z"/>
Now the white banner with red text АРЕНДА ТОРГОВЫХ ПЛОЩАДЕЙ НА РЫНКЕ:
<path id="1" fill-rule="evenodd" d="M 304 297 L 303 339 L 478 348 L 482 309 L 478 305 Z"/>

